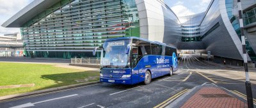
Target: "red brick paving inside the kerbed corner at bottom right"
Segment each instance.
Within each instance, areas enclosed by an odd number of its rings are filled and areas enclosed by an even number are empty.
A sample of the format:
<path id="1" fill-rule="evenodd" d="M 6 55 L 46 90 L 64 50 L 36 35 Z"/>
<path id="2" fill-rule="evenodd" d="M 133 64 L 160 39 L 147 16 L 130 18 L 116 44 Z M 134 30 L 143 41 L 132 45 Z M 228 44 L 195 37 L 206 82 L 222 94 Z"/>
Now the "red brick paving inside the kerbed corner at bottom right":
<path id="1" fill-rule="evenodd" d="M 189 100 L 182 105 L 182 108 L 237 108 L 237 107 L 247 107 L 246 103 L 242 102 L 238 98 L 232 97 L 204 97 L 203 94 L 226 94 L 220 88 L 205 87 L 201 88 L 195 93 Z"/>

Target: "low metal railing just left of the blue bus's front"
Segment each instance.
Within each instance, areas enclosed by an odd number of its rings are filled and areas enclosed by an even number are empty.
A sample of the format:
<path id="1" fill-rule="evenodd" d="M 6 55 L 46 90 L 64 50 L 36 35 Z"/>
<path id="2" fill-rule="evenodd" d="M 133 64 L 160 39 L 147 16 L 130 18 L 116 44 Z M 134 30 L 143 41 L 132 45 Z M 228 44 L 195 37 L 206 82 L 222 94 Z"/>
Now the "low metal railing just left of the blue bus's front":
<path id="1" fill-rule="evenodd" d="M 100 58 L 71 58 L 71 64 L 100 65 Z"/>

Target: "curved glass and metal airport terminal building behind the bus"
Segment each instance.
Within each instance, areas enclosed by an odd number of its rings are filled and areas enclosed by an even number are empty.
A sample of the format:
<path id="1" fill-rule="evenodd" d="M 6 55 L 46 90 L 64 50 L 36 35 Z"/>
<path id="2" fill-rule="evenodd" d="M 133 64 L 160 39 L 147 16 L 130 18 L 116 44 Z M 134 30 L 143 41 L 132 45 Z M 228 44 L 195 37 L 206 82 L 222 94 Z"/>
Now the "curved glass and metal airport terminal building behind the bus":
<path id="1" fill-rule="evenodd" d="M 248 60 L 256 60 L 256 0 L 242 0 Z M 212 0 L 207 10 L 177 17 L 161 0 L 38 0 L 4 22 L 20 27 L 26 55 L 92 57 L 108 38 L 137 36 L 177 49 L 242 60 L 236 0 Z M 97 54 L 99 56 L 99 54 Z"/>

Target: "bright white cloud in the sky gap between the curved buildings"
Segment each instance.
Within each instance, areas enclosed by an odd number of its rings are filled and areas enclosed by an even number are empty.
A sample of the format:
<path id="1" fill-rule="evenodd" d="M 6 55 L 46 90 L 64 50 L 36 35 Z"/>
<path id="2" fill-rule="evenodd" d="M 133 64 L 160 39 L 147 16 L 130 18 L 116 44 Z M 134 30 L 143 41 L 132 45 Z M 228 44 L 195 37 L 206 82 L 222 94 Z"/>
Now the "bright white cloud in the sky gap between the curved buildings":
<path id="1" fill-rule="evenodd" d="M 189 10 L 187 7 L 183 5 L 176 5 L 172 7 L 173 12 L 178 16 L 178 17 L 183 17 L 187 15 L 193 15 L 195 14 L 191 10 Z"/>

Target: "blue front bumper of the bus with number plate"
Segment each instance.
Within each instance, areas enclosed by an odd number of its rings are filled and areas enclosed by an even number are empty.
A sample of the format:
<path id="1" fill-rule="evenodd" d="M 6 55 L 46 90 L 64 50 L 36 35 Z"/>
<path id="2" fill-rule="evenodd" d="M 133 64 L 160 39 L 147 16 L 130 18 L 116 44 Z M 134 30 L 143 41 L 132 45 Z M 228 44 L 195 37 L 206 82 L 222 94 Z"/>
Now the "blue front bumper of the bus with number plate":
<path id="1" fill-rule="evenodd" d="M 100 82 L 108 82 L 108 83 L 113 83 L 113 84 L 132 84 L 131 78 L 129 79 L 109 79 L 109 78 L 104 78 L 100 77 Z"/>

